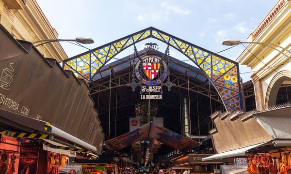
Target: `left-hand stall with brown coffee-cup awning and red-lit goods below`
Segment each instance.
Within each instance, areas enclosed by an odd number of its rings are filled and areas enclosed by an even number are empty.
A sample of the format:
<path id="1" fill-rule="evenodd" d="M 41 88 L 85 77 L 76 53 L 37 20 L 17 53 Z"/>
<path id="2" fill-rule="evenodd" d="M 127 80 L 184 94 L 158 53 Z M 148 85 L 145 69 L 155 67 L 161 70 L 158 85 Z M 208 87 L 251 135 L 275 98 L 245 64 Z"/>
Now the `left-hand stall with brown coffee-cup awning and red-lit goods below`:
<path id="1" fill-rule="evenodd" d="M 72 154 L 97 158 L 104 134 L 90 89 L 0 25 L 0 174 L 58 174 Z"/>

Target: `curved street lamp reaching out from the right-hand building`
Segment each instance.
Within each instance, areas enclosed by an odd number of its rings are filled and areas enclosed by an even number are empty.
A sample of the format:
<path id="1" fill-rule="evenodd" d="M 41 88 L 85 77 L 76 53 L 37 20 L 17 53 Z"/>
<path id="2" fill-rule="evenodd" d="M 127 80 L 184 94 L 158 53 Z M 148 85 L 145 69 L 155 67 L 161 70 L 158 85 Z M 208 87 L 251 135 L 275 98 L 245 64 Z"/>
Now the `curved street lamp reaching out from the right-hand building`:
<path id="1" fill-rule="evenodd" d="M 273 48 L 275 50 L 277 50 L 278 52 L 280 52 L 281 54 L 285 55 L 287 58 L 289 58 L 285 53 L 283 53 L 282 50 L 284 51 L 287 51 L 288 53 L 291 53 L 290 50 L 280 46 L 280 45 L 276 45 L 276 44 L 273 44 L 273 43 L 262 43 L 262 42 L 241 42 L 240 40 L 235 40 L 235 39 L 228 39 L 228 40 L 224 40 L 222 42 L 223 45 L 226 45 L 226 46 L 233 46 L 233 45 L 237 45 L 237 44 L 240 44 L 240 43 L 254 43 L 254 44 L 261 44 L 261 45 L 264 45 L 264 46 L 268 46 L 270 48 Z M 278 50 L 277 47 L 281 48 L 282 50 Z"/>

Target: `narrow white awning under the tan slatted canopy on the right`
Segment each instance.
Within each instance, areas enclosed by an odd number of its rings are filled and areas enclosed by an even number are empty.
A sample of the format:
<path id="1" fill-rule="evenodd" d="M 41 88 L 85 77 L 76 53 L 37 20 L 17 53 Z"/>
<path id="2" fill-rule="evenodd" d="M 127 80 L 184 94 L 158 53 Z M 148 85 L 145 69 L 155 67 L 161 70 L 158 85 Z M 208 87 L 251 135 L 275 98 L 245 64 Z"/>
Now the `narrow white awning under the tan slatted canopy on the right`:
<path id="1" fill-rule="evenodd" d="M 217 160 L 217 159 L 224 159 L 224 158 L 229 158 L 229 157 L 242 156 L 242 155 L 246 154 L 247 150 L 250 150 L 252 148 L 258 147 L 258 146 L 263 145 L 265 143 L 267 143 L 267 142 L 260 143 L 260 144 L 257 144 L 257 145 L 250 145 L 250 146 L 247 146 L 247 147 L 243 147 L 243 148 L 239 148 L 239 149 L 230 150 L 230 151 L 227 151 L 227 152 L 215 154 L 215 155 L 212 155 L 210 157 L 202 158 L 202 161 Z"/>

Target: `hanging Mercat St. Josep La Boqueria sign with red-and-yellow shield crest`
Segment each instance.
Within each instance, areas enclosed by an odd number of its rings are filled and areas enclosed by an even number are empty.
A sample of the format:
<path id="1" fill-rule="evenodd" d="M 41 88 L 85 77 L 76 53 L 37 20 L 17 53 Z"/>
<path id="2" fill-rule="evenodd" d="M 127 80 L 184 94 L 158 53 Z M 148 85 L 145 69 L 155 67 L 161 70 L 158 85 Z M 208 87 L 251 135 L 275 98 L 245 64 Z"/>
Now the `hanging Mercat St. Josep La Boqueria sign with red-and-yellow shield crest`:
<path id="1" fill-rule="evenodd" d="M 146 43 L 146 56 L 139 58 L 134 64 L 132 82 L 128 85 L 135 91 L 135 87 L 140 86 L 141 99 L 162 100 L 162 86 L 168 87 L 170 91 L 172 84 L 169 79 L 169 46 L 162 57 L 157 54 L 158 45 L 156 43 Z M 164 81 L 168 79 L 166 83 Z"/>

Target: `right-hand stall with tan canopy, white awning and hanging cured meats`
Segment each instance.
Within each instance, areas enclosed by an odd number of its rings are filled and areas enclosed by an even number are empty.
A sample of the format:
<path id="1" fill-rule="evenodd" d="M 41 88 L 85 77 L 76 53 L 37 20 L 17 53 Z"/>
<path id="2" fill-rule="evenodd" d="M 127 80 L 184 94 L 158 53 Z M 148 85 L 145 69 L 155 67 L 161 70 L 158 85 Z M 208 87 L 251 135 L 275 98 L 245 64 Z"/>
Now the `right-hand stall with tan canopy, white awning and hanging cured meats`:
<path id="1" fill-rule="evenodd" d="M 202 160 L 244 156 L 248 159 L 245 171 L 250 174 L 287 174 L 291 166 L 290 113 L 289 104 L 240 114 L 214 113 L 215 129 L 210 133 L 218 153 Z"/>

